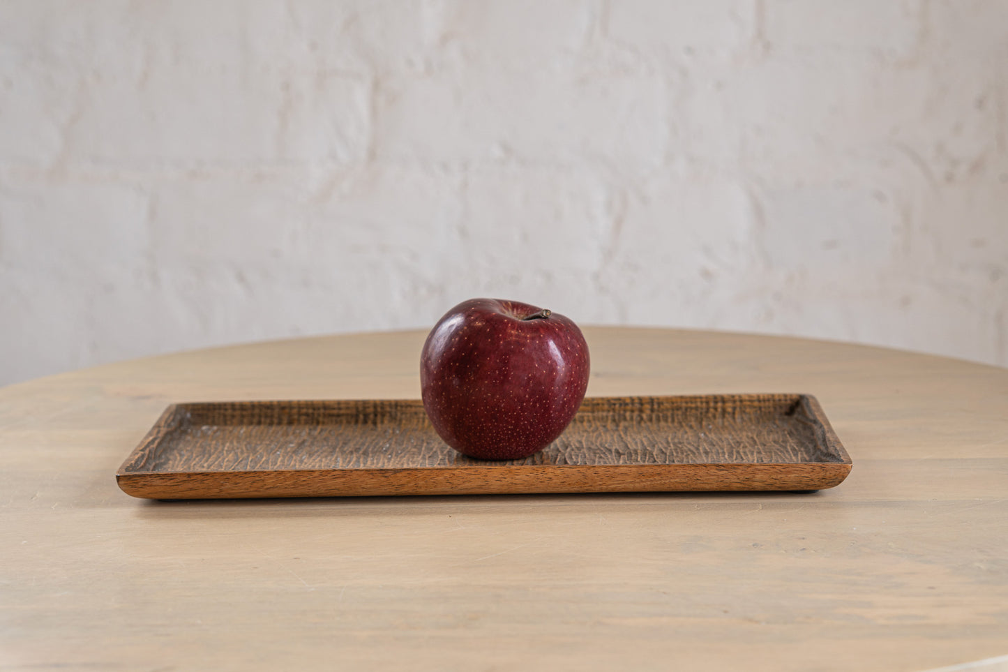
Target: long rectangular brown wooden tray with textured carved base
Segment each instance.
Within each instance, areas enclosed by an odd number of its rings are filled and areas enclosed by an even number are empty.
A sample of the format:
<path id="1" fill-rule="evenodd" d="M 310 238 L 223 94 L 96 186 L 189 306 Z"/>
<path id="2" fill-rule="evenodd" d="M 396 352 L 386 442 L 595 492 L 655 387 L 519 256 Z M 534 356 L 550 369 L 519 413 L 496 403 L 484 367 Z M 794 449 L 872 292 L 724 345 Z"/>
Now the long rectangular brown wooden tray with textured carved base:
<path id="1" fill-rule="evenodd" d="M 851 459 L 809 395 L 589 398 L 523 460 L 466 457 L 419 400 L 178 404 L 116 474 L 156 499 L 816 490 Z"/>

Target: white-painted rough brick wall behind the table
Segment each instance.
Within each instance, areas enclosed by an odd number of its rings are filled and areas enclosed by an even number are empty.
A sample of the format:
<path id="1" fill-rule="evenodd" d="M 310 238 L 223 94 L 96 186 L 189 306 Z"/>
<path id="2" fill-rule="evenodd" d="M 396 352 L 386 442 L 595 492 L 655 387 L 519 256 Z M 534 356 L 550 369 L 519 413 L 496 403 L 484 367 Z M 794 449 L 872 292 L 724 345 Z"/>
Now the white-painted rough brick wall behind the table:
<path id="1" fill-rule="evenodd" d="M 1008 365 L 1008 0 L 0 4 L 0 384 L 481 295 Z"/>

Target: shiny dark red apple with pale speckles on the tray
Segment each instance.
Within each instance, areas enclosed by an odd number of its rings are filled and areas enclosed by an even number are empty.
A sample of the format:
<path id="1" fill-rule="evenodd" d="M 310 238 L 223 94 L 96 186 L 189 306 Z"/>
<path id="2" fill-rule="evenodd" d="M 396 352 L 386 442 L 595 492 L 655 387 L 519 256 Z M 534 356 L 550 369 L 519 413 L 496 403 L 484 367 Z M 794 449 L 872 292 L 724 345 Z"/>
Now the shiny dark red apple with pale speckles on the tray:
<path id="1" fill-rule="evenodd" d="M 448 445 L 519 459 L 556 439 L 588 387 L 588 344 L 563 317 L 517 301 L 471 299 L 445 314 L 420 356 L 423 408 Z"/>

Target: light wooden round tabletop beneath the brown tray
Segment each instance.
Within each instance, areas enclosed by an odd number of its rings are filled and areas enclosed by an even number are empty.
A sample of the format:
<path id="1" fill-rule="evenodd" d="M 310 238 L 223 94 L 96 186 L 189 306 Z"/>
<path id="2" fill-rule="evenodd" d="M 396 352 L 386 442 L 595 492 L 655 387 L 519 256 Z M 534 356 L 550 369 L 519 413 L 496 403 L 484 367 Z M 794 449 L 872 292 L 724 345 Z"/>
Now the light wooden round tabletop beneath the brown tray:
<path id="1" fill-rule="evenodd" d="M 158 502 L 114 473 L 168 404 L 416 398 L 423 334 L 50 376 L 0 389 L 0 669 L 893 672 L 1008 654 L 1008 370 L 585 333 L 589 396 L 815 395 L 851 475 L 815 494 Z"/>

